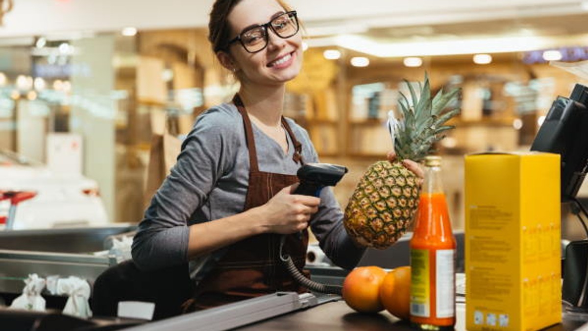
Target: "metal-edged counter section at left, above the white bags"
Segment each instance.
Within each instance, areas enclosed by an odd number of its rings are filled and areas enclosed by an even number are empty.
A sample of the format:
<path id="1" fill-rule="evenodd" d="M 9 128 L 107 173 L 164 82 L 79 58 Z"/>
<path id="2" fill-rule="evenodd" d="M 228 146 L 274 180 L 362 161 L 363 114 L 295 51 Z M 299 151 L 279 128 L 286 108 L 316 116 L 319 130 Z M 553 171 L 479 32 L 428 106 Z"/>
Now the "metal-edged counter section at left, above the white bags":
<path id="1" fill-rule="evenodd" d="M 135 226 L 0 231 L 0 296 L 20 295 L 29 274 L 77 276 L 90 284 L 117 263 L 112 240 Z"/>

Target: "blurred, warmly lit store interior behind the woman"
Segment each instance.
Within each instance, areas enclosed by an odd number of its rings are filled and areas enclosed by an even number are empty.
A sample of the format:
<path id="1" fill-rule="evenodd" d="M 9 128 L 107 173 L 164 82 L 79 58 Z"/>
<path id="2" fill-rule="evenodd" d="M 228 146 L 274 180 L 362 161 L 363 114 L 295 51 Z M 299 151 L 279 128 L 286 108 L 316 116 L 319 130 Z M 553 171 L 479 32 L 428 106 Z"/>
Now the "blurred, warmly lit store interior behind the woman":
<path id="1" fill-rule="evenodd" d="M 141 220 L 152 115 L 164 112 L 169 132 L 185 135 L 238 88 L 206 39 L 211 4 L 14 0 L 0 27 L 0 149 L 45 162 L 49 133 L 81 135 L 82 173 L 99 183 L 109 217 Z M 309 131 L 322 162 L 350 169 L 335 188 L 342 206 L 392 148 L 385 121 L 407 91 L 403 79 L 426 71 L 433 91 L 462 88 L 456 129 L 437 146 L 455 229 L 464 222 L 463 155 L 528 150 L 554 98 L 587 83 L 549 65 L 588 59 L 586 1 L 289 4 L 308 49 L 286 116 Z M 582 237 L 562 210 L 564 236 Z"/>

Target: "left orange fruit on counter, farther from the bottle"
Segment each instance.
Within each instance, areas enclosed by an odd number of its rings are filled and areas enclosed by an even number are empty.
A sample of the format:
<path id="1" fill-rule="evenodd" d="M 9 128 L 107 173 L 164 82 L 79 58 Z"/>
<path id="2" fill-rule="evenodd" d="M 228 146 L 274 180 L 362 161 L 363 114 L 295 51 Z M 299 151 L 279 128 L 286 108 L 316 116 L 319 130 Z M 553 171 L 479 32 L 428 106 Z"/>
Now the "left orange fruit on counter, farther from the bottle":
<path id="1" fill-rule="evenodd" d="M 384 277 L 386 270 L 377 266 L 353 269 L 343 281 L 343 300 L 349 307 L 361 313 L 384 310 L 379 295 Z"/>

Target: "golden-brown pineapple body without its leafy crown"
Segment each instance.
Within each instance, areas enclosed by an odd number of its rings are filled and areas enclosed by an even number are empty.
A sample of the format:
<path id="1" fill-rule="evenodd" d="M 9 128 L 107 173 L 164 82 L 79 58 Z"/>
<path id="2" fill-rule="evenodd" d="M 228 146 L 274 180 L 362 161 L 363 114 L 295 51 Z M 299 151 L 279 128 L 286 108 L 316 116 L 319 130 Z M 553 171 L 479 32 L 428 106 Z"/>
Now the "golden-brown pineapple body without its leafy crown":
<path id="1" fill-rule="evenodd" d="M 420 180 L 400 162 L 369 166 L 349 198 L 343 225 L 360 246 L 385 249 L 412 225 Z"/>

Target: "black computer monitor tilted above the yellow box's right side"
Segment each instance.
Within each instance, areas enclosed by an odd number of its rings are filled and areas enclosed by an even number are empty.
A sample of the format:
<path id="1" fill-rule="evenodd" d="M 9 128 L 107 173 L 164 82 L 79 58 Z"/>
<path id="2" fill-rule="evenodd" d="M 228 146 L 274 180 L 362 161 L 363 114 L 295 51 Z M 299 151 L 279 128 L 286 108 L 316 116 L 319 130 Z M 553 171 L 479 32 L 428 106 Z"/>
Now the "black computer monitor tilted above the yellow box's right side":
<path id="1" fill-rule="evenodd" d="M 562 202 L 576 198 L 588 165 L 588 88 L 576 84 L 558 96 L 535 136 L 531 151 L 557 153 L 562 161 Z"/>

